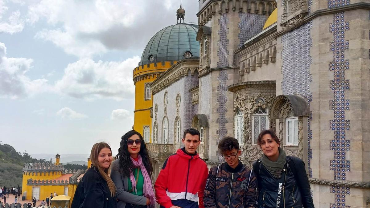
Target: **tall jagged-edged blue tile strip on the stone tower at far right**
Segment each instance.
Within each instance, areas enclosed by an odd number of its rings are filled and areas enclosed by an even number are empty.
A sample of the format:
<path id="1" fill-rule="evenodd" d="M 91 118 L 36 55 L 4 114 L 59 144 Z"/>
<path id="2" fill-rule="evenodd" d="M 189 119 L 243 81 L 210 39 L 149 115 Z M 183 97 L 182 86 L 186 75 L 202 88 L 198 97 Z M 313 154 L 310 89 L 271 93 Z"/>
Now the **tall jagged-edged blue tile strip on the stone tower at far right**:
<path id="1" fill-rule="evenodd" d="M 329 4 L 329 2 L 328 2 Z M 346 120 L 346 111 L 350 103 L 346 99 L 346 90 L 349 90 L 349 80 L 345 79 L 345 71 L 349 70 L 349 61 L 344 57 L 349 43 L 344 33 L 349 30 L 349 22 L 344 21 L 344 12 L 334 14 L 334 22 L 330 25 L 333 33 L 333 42 L 330 51 L 334 53 L 334 61 L 330 62 L 329 70 L 334 72 L 334 80 L 329 82 L 329 88 L 334 92 L 334 100 L 329 101 L 329 109 L 334 111 L 333 120 L 330 120 L 330 129 L 334 131 L 334 139 L 330 140 L 330 149 L 334 150 L 334 160 L 330 160 L 330 170 L 334 171 L 334 180 L 346 180 L 346 173 L 350 171 L 350 161 L 346 160 L 346 151 L 350 150 L 350 140 L 346 138 L 346 131 L 350 129 L 350 121 Z M 350 207 L 346 205 L 345 195 L 350 195 L 350 188 L 330 187 L 334 193 L 334 207 Z"/>

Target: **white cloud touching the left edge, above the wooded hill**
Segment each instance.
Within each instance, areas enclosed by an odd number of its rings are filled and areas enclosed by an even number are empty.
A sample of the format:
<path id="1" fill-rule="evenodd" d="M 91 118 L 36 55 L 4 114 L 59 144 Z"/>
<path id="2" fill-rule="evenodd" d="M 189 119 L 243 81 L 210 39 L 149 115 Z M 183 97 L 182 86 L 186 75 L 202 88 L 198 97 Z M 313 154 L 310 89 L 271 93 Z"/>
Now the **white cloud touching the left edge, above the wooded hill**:
<path id="1" fill-rule="evenodd" d="M 29 58 L 6 57 L 5 44 L 0 43 L 0 97 L 17 99 L 51 90 L 48 80 L 31 80 L 26 76 L 32 63 Z"/>

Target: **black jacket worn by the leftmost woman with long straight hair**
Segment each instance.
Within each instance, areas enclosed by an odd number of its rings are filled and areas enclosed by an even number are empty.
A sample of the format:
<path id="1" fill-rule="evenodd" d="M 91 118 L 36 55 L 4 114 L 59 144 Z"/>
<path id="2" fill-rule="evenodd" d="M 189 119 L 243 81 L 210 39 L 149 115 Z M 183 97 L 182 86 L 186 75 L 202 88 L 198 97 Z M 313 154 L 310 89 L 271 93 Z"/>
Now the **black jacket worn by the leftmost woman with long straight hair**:
<path id="1" fill-rule="evenodd" d="M 117 198 L 111 196 L 107 182 L 97 168 L 89 168 L 76 188 L 71 208 L 116 207 Z"/>

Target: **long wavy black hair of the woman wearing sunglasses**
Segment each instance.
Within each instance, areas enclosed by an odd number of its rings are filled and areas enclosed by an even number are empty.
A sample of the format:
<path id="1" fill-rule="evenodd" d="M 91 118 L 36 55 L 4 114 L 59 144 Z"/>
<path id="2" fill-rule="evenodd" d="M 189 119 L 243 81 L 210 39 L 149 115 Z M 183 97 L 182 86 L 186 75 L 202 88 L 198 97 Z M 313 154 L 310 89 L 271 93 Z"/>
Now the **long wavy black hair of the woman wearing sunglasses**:
<path id="1" fill-rule="evenodd" d="M 127 140 L 128 138 L 132 137 L 133 135 L 138 135 L 141 140 L 140 151 L 139 154 L 141 155 L 142 162 L 144 163 L 145 168 L 147 169 L 149 175 L 151 176 L 153 173 L 153 165 L 150 161 L 149 152 L 147 149 L 147 144 L 142 139 L 142 136 L 139 132 L 135 130 L 128 131 L 125 135 L 121 137 L 121 147 L 118 148 L 118 154 L 116 155 L 116 159 L 120 158 L 120 169 L 121 173 L 126 176 L 130 177 L 130 170 L 134 172 L 134 164 L 131 161 L 131 155 L 128 152 Z"/>

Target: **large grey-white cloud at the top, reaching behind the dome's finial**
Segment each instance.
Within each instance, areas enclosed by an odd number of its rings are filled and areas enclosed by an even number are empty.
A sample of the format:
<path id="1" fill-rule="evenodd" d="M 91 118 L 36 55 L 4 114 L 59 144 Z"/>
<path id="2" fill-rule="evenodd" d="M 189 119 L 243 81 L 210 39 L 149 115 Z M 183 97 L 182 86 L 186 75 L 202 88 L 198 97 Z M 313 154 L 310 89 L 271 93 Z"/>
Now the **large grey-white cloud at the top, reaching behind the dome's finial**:
<path id="1" fill-rule="evenodd" d="M 41 0 L 28 6 L 27 22 L 46 20 L 53 28 L 40 30 L 36 38 L 85 58 L 112 49 L 142 50 L 157 31 L 176 24 L 178 4 L 178 0 Z M 186 20 L 196 22 L 198 3 L 187 1 L 182 6 Z"/>

